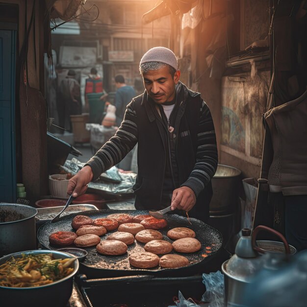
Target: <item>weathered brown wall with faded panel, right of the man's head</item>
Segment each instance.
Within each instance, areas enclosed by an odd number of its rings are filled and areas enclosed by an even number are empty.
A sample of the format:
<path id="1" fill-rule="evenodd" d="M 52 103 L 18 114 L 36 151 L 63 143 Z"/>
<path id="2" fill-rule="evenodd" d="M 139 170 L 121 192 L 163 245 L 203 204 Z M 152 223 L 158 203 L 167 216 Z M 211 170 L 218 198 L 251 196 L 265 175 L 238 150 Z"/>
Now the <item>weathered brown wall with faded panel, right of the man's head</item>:
<path id="1" fill-rule="evenodd" d="M 244 69 L 225 72 L 225 61 L 268 35 L 269 2 L 217 0 L 210 1 L 210 6 L 209 2 L 198 1 L 182 18 L 182 80 L 202 94 L 211 110 L 219 163 L 239 168 L 243 177 L 258 178 L 260 173 L 261 116 L 265 112 L 270 73 L 269 67 L 263 70 L 262 65 L 260 69 L 259 62 L 259 72 L 253 78 L 249 62 Z"/>

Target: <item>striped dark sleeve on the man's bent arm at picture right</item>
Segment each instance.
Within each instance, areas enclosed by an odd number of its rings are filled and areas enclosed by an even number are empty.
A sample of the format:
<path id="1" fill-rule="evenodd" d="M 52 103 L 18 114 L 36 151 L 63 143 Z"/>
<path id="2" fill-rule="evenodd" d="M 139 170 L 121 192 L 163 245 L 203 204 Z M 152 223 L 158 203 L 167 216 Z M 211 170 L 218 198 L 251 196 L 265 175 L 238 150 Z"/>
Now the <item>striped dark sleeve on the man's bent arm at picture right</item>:
<path id="1" fill-rule="evenodd" d="M 217 163 L 218 153 L 213 120 L 208 106 L 203 101 L 197 133 L 196 163 L 189 178 L 181 186 L 188 186 L 198 197 L 214 176 Z"/>

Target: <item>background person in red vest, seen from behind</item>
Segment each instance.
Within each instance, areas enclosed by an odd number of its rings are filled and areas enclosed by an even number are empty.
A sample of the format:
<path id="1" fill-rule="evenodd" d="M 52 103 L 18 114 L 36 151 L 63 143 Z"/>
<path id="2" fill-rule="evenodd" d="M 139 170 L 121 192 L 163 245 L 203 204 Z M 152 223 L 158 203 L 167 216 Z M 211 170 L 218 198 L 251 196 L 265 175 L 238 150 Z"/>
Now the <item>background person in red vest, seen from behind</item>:
<path id="1" fill-rule="evenodd" d="M 85 111 L 90 113 L 90 123 L 101 123 L 107 96 L 108 94 L 103 89 L 102 77 L 93 67 L 89 77 L 85 80 Z"/>

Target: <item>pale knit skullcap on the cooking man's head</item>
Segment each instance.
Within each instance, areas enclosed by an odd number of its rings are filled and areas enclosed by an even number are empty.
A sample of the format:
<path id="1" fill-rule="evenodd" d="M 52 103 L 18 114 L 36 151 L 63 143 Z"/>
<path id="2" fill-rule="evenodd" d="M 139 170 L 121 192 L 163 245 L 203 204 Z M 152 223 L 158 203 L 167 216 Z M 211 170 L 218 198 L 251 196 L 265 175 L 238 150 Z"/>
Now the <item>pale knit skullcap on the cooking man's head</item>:
<path id="1" fill-rule="evenodd" d="M 140 65 L 148 62 L 165 63 L 178 70 L 178 63 L 175 53 L 165 47 L 154 47 L 147 51 L 141 58 Z"/>

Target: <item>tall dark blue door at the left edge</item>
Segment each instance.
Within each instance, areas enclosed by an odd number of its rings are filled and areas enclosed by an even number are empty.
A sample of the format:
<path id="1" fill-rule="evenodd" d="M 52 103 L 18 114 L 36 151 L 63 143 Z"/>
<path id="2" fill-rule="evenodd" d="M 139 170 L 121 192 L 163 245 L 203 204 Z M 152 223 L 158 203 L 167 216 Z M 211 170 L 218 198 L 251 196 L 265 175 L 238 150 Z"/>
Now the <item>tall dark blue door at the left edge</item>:
<path id="1" fill-rule="evenodd" d="M 0 30 L 0 202 L 16 202 L 16 31 Z"/>

